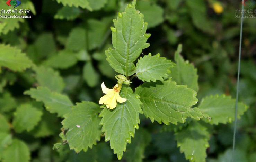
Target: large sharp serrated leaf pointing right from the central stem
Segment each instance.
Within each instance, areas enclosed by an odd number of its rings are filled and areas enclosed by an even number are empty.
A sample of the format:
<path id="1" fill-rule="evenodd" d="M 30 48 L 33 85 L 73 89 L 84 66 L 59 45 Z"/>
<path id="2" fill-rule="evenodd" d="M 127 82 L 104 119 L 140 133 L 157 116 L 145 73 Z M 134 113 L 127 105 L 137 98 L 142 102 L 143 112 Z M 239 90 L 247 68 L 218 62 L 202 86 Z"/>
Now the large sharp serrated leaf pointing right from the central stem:
<path id="1" fill-rule="evenodd" d="M 184 123 L 187 117 L 199 120 L 204 115 L 198 108 L 190 108 L 197 103 L 196 92 L 185 85 L 177 85 L 170 79 L 164 82 L 144 83 L 135 93 L 143 103 L 144 115 L 153 122 L 169 125 Z"/>

